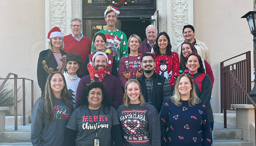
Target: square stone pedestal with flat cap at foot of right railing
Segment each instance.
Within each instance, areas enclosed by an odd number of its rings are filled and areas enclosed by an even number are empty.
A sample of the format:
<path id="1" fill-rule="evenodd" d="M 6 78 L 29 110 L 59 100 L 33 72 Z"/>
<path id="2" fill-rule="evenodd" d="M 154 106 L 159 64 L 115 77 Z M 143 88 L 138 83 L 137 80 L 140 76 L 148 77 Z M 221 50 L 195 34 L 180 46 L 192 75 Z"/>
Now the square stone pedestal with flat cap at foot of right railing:
<path id="1" fill-rule="evenodd" d="M 254 121 L 254 106 L 248 104 L 232 104 L 237 110 L 237 128 L 243 129 L 243 139 L 252 141 L 252 123 Z"/>

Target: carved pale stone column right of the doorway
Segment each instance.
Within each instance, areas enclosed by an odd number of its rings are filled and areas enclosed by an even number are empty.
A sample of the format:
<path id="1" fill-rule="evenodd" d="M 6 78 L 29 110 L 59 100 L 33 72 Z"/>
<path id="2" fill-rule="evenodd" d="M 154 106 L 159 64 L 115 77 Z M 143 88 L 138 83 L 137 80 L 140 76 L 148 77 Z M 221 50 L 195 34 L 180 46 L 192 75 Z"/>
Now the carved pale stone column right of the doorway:
<path id="1" fill-rule="evenodd" d="M 168 33 L 172 46 L 184 41 L 184 25 L 193 25 L 193 0 L 158 0 L 159 32 Z"/>

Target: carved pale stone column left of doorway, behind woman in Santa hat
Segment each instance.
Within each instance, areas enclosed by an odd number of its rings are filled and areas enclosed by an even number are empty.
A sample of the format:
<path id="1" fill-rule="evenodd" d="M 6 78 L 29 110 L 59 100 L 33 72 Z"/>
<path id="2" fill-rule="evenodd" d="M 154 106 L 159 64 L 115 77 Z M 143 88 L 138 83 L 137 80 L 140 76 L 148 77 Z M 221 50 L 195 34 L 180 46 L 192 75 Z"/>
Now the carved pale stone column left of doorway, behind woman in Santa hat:
<path id="1" fill-rule="evenodd" d="M 55 26 L 64 36 L 70 34 L 72 18 L 82 19 L 82 0 L 45 0 L 45 40 Z M 45 49 L 48 49 L 48 43 L 45 43 Z"/>

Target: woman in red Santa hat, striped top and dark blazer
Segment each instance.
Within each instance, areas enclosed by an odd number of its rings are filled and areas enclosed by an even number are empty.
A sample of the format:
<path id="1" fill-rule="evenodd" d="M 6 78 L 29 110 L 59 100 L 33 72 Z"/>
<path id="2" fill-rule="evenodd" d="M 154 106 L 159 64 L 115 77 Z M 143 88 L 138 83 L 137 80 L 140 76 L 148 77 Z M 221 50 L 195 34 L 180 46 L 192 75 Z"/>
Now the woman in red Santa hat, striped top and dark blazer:
<path id="1" fill-rule="evenodd" d="M 53 68 L 53 71 L 58 71 L 57 67 L 62 65 L 60 58 L 63 55 L 67 55 L 64 49 L 63 34 L 60 31 L 60 28 L 57 26 L 53 27 L 48 33 L 48 39 L 46 40 L 49 43 L 47 50 L 41 51 L 38 58 L 38 85 L 41 88 L 42 95 L 45 91 L 45 83 L 49 73 L 47 73 L 43 67 L 42 61 L 45 60 L 48 68 Z"/>

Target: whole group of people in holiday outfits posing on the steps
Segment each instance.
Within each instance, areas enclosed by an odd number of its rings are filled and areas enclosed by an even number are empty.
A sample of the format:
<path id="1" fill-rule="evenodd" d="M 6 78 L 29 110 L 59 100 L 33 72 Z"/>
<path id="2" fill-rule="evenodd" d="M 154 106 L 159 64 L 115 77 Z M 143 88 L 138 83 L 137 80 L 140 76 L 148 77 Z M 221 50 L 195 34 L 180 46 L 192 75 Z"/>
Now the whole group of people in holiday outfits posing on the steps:
<path id="1" fill-rule="evenodd" d="M 93 41 L 73 18 L 72 33 L 49 31 L 38 58 L 41 97 L 32 110 L 34 146 L 211 146 L 214 76 L 210 53 L 184 26 L 172 48 L 166 32 L 147 39 L 115 28 L 109 5 L 105 29 Z M 65 42 L 65 45 L 64 45 Z"/>

